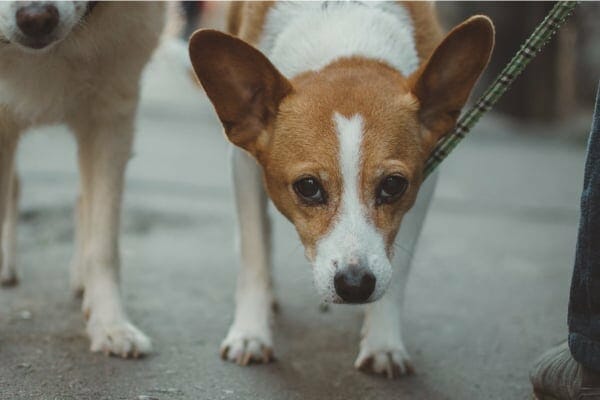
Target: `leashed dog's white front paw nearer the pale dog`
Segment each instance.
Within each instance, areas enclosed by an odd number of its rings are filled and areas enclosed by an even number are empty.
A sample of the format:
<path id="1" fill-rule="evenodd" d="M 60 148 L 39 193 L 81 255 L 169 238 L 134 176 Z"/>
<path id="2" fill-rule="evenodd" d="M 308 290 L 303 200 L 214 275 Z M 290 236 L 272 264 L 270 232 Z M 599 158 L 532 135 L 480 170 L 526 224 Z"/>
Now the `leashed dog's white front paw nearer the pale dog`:
<path id="1" fill-rule="evenodd" d="M 233 327 L 221 344 L 221 358 L 238 365 L 268 363 L 273 360 L 273 345 L 268 334 L 238 333 Z"/>

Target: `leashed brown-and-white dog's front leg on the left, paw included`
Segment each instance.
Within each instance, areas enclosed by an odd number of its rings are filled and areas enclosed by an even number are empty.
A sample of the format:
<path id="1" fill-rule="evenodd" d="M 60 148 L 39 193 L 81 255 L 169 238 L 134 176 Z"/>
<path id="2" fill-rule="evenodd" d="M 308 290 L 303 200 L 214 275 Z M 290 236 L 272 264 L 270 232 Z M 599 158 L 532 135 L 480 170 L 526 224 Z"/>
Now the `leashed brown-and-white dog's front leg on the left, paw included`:
<path id="1" fill-rule="evenodd" d="M 221 356 L 241 365 L 269 362 L 273 294 L 270 277 L 270 226 L 267 196 L 258 164 L 233 149 L 233 183 L 239 225 L 241 266 L 233 324 L 221 345 Z"/>

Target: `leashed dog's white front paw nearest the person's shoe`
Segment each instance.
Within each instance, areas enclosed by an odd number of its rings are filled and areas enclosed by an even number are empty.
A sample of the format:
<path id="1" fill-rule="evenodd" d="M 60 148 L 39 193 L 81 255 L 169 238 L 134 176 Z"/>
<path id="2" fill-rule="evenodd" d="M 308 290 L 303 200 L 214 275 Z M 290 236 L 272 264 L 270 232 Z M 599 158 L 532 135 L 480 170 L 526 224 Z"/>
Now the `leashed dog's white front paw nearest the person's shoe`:
<path id="1" fill-rule="evenodd" d="M 385 375 L 388 379 L 414 373 L 413 365 L 404 350 L 361 352 L 354 366 L 363 372 Z"/>

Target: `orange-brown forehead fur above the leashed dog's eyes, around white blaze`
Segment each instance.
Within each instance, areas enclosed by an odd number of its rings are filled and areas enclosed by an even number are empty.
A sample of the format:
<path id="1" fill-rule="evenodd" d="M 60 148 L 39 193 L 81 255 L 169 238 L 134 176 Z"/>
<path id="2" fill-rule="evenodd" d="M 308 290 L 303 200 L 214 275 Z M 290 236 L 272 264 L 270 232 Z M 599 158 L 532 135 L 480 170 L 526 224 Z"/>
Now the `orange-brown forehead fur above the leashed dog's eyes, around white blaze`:
<path id="1" fill-rule="evenodd" d="M 293 80 L 294 93 L 280 107 L 271 151 L 285 162 L 337 168 L 335 116 L 361 118 L 361 158 L 374 162 L 419 154 L 418 101 L 406 80 L 385 65 L 309 73 Z M 284 161 L 284 160 L 282 160 Z"/>

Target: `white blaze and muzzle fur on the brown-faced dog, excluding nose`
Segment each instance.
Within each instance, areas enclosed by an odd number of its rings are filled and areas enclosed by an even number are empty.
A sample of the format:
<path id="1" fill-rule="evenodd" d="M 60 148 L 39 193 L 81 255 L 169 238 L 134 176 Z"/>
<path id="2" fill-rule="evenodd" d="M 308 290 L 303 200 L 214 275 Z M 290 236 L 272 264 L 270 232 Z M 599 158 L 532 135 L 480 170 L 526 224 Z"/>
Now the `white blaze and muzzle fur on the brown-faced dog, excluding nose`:
<path id="1" fill-rule="evenodd" d="M 315 284 L 326 300 L 336 300 L 335 272 L 344 269 L 350 260 L 357 260 L 375 275 L 376 286 L 371 296 L 375 300 L 389 284 L 391 265 L 383 237 L 368 220 L 360 199 L 363 118 L 359 114 L 345 118 L 335 113 L 333 121 L 339 141 L 343 189 L 331 229 L 317 244 Z"/>

